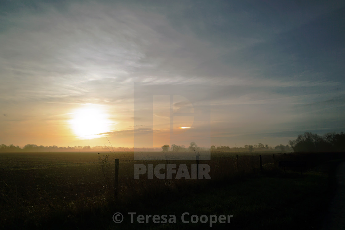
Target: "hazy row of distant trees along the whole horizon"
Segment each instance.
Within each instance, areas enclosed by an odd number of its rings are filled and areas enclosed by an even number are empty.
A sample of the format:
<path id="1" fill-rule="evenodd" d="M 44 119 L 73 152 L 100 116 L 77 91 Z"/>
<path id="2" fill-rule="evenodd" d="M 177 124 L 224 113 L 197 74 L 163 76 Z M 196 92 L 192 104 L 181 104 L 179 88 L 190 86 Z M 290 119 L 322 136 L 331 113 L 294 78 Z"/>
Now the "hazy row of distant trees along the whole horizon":
<path id="1" fill-rule="evenodd" d="M 28 144 L 23 148 L 14 146 L 13 144 L 0 145 L 0 152 L 58 152 L 58 151 L 174 151 L 174 152 L 183 152 L 183 151 L 218 151 L 218 152 L 230 152 L 230 151 L 239 151 L 239 152 L 253 152 L 253 151 L 262 151 L 262 150 L 277 150 L 280 152 L 345 152 L 345 133 L 326 133 L 323 136 L 318 134 L 312 134 L 310 132 L 305 132 L 304 134 L 298 135 L 295 140 L 289 140 L 288 145 L 277 145 L 271 147 L 268 144 L 258 143 L 257 145 L 245 145 L 244 147 L 229 147 L 229 146 L 214 146 L 210 148 L 199 147 L 195 142 L 190 142 L 189 146 L 184 145 L 163 145 L 161 148 L 128 148 L 128 147 L 108 147 L 108 146 L 73 146 L 73 147 L 58 147 L 53 146 L 43 146 L 43 145 L 34 145 Z"/>

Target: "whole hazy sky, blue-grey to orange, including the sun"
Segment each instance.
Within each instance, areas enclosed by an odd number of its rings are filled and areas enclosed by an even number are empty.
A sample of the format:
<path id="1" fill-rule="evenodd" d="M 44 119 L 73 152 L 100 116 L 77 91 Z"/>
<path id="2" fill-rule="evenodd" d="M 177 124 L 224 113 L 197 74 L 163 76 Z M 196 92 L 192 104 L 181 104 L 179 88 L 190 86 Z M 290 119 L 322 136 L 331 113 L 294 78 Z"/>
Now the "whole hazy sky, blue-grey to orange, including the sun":
<path id="1" fill-rule="evenodd" d="M 0 144 L 275 146 L 345 131 L 344 41 L 344 1 L 4 0 Z"/>

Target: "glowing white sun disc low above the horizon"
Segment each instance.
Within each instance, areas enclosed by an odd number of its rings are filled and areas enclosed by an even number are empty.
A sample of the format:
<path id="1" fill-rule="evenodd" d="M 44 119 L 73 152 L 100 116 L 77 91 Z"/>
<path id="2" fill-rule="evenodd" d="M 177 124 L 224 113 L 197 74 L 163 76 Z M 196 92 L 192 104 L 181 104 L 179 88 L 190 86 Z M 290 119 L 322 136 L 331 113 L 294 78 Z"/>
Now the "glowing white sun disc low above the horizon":
<path id="1" fill-rule="evenodd" d="M 77 109 L 69 123 L 81 139 L 101 137 L 99 134 L 108 132 L 111 125 L 107 113 L 98 106 Z"/>

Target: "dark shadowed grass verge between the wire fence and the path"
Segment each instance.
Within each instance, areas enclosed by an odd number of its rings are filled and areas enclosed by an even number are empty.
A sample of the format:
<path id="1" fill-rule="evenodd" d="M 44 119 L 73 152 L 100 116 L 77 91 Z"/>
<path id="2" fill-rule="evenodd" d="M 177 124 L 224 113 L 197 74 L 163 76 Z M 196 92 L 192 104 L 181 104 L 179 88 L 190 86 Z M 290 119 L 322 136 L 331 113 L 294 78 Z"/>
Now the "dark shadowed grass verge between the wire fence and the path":
<path id="1" fill-rule="evenodd" d="M 138 214 L 174 214 L 173 224 L 130 224 L 129 215 L 123 223 L 110 228 L 140 229 L 205 229 L 207 223 L 181 221 L 181 215 L 233 215 L 229 224 L 215 223 L 215 229 L 319 229 L 327 208 L 327 177 L 307 173 L 303 178 L 257 176 L 235 184 L 218 184 L 193 195 L 170 197 L 139 208 L 113 209 L 114 212 Z M 315 215 L 315 213 L 317 213 Z M 187 219 L 187 218 L 186 218 Z M 107 226 L 105 226 L 107 227 Z"/>

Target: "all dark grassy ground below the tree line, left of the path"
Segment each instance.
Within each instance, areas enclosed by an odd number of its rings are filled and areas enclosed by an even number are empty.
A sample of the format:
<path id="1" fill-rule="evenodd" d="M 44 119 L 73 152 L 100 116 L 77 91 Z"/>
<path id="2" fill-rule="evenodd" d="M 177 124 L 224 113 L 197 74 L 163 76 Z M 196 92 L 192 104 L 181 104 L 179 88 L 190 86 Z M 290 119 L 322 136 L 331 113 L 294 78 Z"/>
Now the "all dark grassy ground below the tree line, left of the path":
<path id="1" fill-rule="evenodd" d="M 73 155 L 74 154 L 74 155 Z M 335 189 L 334 168 L 344 153 L 294 153 L 262 156 L 213 154 L 212 179 L 133 179 L 133 164 L 195 161 L 133 161 L 132 153 L 120 158 L 119 194 L 114 198 L 112 156 L 97 153 L 22 153 L 1 155 L 1 229 L 203 229 L 207 223 L 181 222 L 181 214 L 233 215 L 216 229 L 320 229 Z M 88 155 L 87 155 L 88 154 Z M 97 158 L 98 157 L 98 158 Z M 110 157 L 110 158 L 109 158 Z M 27 163 L 24 159 L 30 159 Z M 298 168 L 278 168 L 279 160 L 307 161 Z M 87 163 L 87 162 L 94 163 Z M 20 165 L 22 162 L 22 165 Z M 61 163 L 52 166 L 52 163 Z M 78 164 L 76 164 L 78 163 Z M 36 166 L 35 166 L 36 165 Z M 37 167 L 37 165 L 41 165 Z M 43 166 L 51 165 L 51 166 Z M 11 167 L 12 166 L 12 167 Z M 16 167 L 14 167 L 16 166 Z M 19 166 L 19 168 L 18 168 Z M 125 219 L 115 224 L 112 215 Z M 137 215 L 175 215 L 176 223 L 130 223 Z"/>

